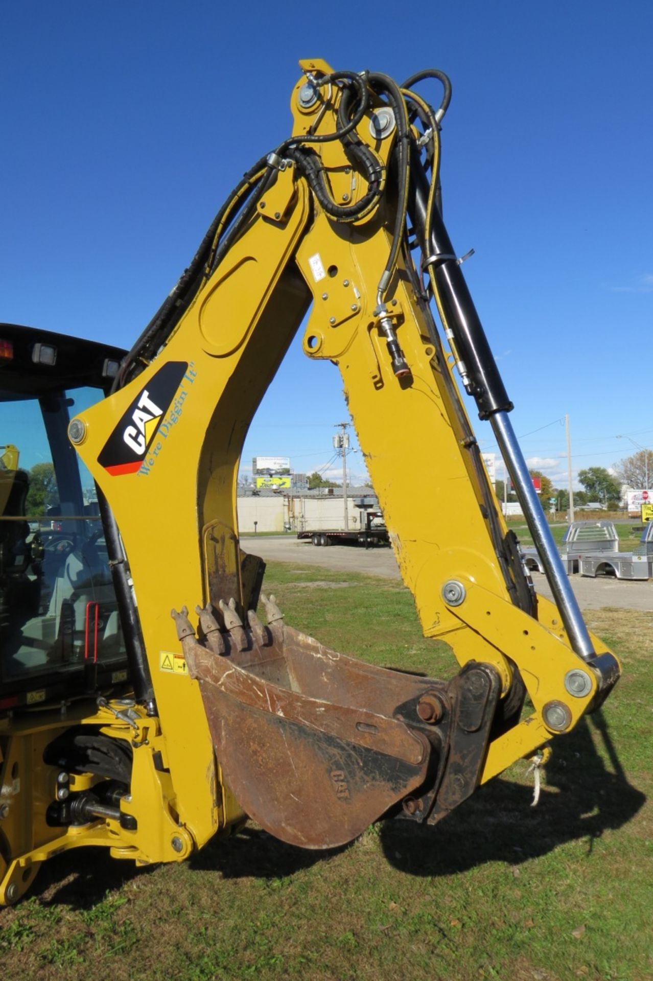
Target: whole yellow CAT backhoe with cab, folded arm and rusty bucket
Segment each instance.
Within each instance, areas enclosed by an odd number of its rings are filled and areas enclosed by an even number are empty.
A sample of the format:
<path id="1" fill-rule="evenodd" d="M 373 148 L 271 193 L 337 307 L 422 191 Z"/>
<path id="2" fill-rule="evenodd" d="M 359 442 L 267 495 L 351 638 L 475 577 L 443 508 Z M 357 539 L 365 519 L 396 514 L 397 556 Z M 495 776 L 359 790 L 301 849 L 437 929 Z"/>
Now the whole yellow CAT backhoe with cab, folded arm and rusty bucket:
<path id="1" fill-rule="evenodd" d="M 443 224 L 449 79 L 300 67 L 291 135 L 237 184 L 128 353 L 0 327 L 2 903 L 82 846 L 146 864 L 247 817 L 316 849 L 381 817 L 434 823 L 618 680 Z M 299 633 L 240 548 L 243 441 L 302 325 L 306 356 L 342 375 L 424 634 L 459 662 L 450 681 Z M 459 385 L 554 602 L 533 591 Z"/>

